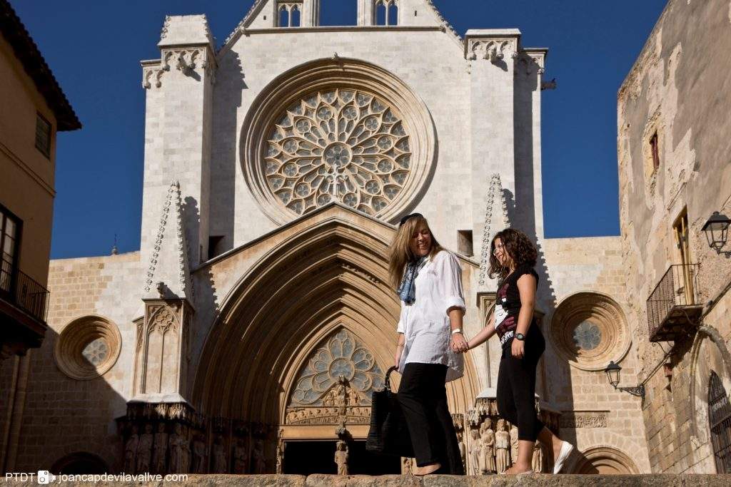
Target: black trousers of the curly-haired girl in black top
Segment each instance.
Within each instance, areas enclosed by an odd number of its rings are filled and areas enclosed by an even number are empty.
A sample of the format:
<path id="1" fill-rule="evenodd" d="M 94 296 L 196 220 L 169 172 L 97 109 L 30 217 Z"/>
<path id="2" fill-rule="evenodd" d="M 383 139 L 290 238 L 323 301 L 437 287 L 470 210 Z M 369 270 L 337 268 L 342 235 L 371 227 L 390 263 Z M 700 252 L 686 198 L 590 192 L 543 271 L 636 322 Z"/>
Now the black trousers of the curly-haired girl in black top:
<path id="1" fill-rule="evenodd" d="M 546 343 L 535 323 L 531 324 L 526 334 L 523 358 L 512 356 L 512 340 L 505 344 L 500 358 L 498 413 L 511 424 L 518 426 L 518 440 L 535 442 L 544 426 L 536 414 L 535 394 L 536 369 Z"/>

